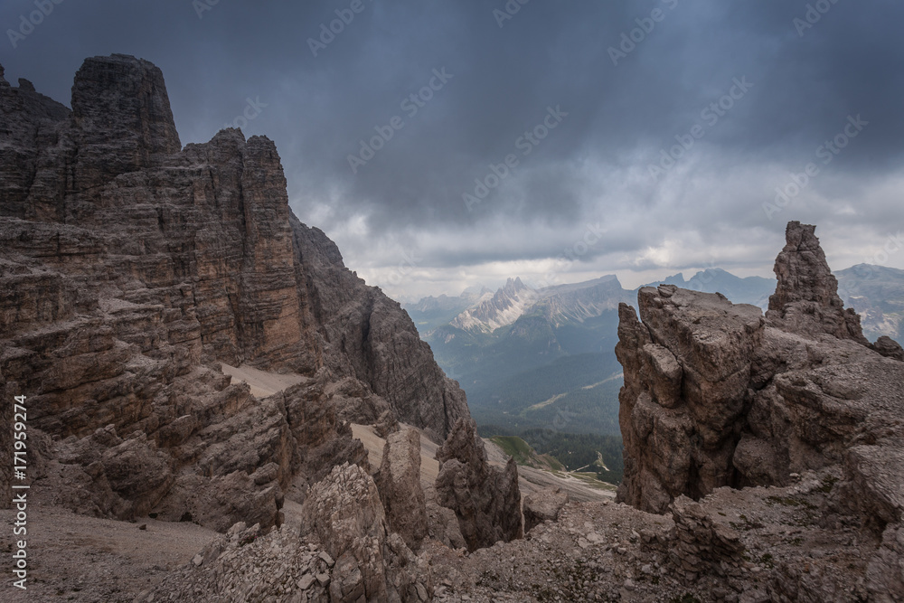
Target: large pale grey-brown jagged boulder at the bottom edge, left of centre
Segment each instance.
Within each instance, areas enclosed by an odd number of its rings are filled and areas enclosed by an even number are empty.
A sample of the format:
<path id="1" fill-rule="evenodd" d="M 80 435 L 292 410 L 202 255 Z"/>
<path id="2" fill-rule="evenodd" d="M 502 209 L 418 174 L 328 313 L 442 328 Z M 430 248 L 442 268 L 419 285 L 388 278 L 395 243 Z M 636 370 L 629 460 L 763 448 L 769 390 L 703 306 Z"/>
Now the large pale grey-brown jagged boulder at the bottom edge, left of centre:
<path id="1" fill-rule="evenodd" d="M 377 486 L 361 467 L 345 464 L 311 490 L 302 506 L 302 536 L 316 537 L 335 565 L 331 600 L 418 601 L 432 592 L 429 571 L 396 533 L 388 533 Z"/>

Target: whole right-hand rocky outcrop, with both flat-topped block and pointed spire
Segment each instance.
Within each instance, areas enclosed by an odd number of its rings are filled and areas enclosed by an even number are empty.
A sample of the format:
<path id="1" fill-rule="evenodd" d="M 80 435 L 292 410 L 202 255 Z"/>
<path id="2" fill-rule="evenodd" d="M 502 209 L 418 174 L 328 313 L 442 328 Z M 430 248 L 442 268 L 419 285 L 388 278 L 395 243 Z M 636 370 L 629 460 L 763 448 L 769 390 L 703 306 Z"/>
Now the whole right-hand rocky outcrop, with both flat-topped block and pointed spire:
<path id="1" fill-rule="evenodd" d="M 872 351 L 843 309 L 814 227 L 788 225 L 776 274 L 765 318 L 668 285 L 640 290 L 643 322 L 620 308 L 621 500 L 663 513 L 679 495 L 850 466 L 863 441 L 898 446 L 904 365 Z"/>

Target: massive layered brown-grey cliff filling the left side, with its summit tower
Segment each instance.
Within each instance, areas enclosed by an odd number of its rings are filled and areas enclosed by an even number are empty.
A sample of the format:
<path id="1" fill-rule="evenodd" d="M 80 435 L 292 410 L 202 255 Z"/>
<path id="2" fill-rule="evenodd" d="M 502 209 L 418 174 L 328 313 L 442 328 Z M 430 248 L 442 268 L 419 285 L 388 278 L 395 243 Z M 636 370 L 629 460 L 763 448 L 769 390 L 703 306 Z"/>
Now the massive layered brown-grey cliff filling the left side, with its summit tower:
<path id="1" fill-rule="evenodd" d="M 292 215 L 271 141 L 183 148 L 161 72 L 125 55 L 85 61 L 71 107 L 0 77 L 0 391 L 47 436 L 38 495 L 266 529 L 367 467 L 349 421 L 440 442 L 469 417 L 399 304 Z M 258 400 L 218 363 L 305 381 Z"/>

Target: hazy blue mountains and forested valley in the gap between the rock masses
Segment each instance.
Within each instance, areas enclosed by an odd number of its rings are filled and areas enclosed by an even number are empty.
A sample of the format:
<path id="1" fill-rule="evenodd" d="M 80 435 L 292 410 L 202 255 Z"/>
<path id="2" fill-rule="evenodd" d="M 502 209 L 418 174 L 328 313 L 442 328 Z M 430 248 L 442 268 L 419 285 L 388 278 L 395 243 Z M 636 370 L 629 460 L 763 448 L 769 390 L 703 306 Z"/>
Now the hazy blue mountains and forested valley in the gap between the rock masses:
<path id="1" fill-rule="evenodd" d="M 406 309 L 466 389 L 478 423 L 617 434 L 612 350 L 618 304 L 634 297 L 612 275 L 539 289 L 510 278 L 494 292 L 427 297 Z"/>

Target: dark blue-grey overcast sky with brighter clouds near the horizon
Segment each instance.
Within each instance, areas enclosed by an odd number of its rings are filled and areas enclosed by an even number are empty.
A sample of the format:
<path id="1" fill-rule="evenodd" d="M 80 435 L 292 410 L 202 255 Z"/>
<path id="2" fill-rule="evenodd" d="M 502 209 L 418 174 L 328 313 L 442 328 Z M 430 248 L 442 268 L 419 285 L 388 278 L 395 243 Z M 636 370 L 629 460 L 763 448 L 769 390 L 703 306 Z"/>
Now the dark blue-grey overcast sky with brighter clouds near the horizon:
<path id="1" fill-rule="evenodd" d="M 772 276 L 789 220 L 904 268 L 899 0 L 57 1 L 0 3 L 7 80 L 68 105 L 85 57 L 154 62 L 183 144 L 275 140 L 392 297 Z"/>

